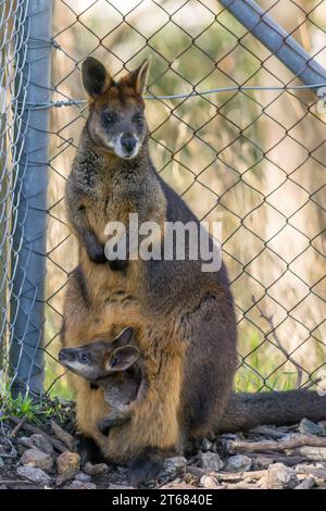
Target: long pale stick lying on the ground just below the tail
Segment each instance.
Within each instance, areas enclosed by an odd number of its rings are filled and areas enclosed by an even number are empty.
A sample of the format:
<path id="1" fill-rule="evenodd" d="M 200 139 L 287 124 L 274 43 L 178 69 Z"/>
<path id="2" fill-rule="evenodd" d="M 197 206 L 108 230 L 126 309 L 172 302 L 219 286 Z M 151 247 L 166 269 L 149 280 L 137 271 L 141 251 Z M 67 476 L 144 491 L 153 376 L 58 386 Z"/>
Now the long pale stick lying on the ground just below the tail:
<path id="1" fill-rule="evenodd" d="M 262 440 L 262 441 L 241 441 L 229 440 L 227 448 L 230 452 L 264 452 L 264 451 L 285 451 L 298 447 L 326 447 L 326 437 L 313 435 L 300 435 L 284 440 Z"/>

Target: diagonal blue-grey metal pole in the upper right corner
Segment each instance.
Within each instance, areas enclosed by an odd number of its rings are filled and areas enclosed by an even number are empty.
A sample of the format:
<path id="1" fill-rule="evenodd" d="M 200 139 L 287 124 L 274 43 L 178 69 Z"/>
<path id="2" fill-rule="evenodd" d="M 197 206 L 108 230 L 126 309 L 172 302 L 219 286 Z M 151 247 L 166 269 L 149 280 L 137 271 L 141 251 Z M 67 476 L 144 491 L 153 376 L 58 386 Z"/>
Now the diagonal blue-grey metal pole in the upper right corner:
<path id="1" fill-rule="evenodd" d="M 253 0 L 218 0 L 250 33 L 306 85 L 326 83 L 322 67 L 296 39 L 264 13 Z"/>

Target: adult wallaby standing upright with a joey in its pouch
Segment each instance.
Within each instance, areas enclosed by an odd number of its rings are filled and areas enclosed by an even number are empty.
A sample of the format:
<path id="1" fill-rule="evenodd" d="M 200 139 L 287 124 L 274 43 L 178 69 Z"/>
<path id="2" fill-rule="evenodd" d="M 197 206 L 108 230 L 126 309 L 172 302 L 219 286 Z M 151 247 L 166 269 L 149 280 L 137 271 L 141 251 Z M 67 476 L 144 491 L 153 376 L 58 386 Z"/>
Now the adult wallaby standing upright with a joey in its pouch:
<path id="1" fill-rule="evenodd" d="M 263 422 L 326 417 L 326 397 L 284 392 L 231 397 L 237 365 L 236 317 L 225 266 L 202 272 L 203 261 L 125 260 L 108 263 L 105 225 L 198 220 L 156 174 L 148 152 L 142 94 L 148 61 L 115 82 L 102 63 L 88 58 L 83 83 L 89 115 L 67 180 L 66 202 L 78 239 L 79 263 L 70 275 L 62 342 L 78 346 L 103 334 L 113 338 L 126 324 L 134 328 L 145 360 L 147 397 L 131 420 L 101 435 L 108 414 L 101 389 L 71 376 L 77 423 L 102 453 L 130 463 L 133 484 L 155 475 L 160 460 L 181 450 L 188 437 L 212 429 L 234 429 Z M 164 241 L 162 235 L 152 244 Z M 189 240 L 186 253 L 189 256 Z M 255 403 L 259 403 L 258 406 Z M 290 414 L 289 414 L 290 411 Z"/>

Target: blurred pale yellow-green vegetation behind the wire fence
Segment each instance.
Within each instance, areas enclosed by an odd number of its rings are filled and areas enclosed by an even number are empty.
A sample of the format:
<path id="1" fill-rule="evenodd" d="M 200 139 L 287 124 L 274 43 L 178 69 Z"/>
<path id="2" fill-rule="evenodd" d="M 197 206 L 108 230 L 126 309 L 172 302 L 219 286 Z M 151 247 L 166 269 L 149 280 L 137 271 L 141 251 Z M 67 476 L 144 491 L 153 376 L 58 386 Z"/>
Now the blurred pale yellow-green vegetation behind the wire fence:
<path id="1" fill-rule="evenodd" d="M 259 3 L 325 65 L 325 2 Z M 300 83 L 215 0 L 55 0 L 53 24 L 54 100 L 85 99 L 80 63 L 89 54 L 117 76 L 151 54 L 155 96 Z M 156 169 L 199 219 L 223 222 L 239 390 L 305 385 L 325 364 L 326 115 L 315 101 L 309 90 L 147 101 Z M 86 114 L 84 103 L 57 108 L 50 121 L 46 384 L 61 397 L 71 392 L 55 358 L 76 263 L 63 196 Z"/>

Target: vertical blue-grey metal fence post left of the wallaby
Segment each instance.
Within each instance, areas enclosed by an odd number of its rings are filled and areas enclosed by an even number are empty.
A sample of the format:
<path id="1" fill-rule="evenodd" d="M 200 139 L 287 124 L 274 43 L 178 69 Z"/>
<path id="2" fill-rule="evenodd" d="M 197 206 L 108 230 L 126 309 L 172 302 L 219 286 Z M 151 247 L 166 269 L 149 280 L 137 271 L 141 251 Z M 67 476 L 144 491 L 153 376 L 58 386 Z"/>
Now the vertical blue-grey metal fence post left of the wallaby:
<path id="1" fill-rule="evenodd" d="M 27 4 L 27 5 L 26 5 Z M 52 0 L 27 0 L 23 61 L 20 160 L 15 169 L 15 211 L 11 290 L 11 367 L 15 395 L 39 395 L 43 388 L 48 122 Z M 25 61 L 23 60 L 25 59 Z"/>

